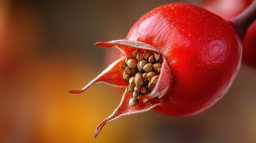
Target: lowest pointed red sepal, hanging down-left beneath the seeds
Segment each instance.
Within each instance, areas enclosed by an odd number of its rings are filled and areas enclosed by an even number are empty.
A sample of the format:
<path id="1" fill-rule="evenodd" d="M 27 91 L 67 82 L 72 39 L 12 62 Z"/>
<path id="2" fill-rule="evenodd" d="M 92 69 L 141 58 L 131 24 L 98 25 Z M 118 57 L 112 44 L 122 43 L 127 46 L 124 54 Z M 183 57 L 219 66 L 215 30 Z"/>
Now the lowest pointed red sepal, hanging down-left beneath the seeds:
<path id="1" fill-rule="evenodd" d="M 134 106 L 129 106 L 129 99 L 131 99 L 131 98 L 132 98 L 132 92 L 124 93 L 118 108 L 116 108 L 116 110 L 109 117 L 107 117 L 107 119 L 103 120 L 103 122 L 101 122 L 97 126 L 97 128 L 95 130 L 94 137 L 97 137 L 98 133 L 100 133 L 100 130 L 103 128 L 103 126 L 107 122 L 118 119 L 121 116 L 129 115 L 129 114 L 136 114 L 136 113 L 143 113 L 145 111 L 149 111 L 152 108 L 160 105 L 159 98 L 155 98 L 146 103 L 143 103 L 143 101 L 139 100 L 138 104 L 136 104 Z"/>

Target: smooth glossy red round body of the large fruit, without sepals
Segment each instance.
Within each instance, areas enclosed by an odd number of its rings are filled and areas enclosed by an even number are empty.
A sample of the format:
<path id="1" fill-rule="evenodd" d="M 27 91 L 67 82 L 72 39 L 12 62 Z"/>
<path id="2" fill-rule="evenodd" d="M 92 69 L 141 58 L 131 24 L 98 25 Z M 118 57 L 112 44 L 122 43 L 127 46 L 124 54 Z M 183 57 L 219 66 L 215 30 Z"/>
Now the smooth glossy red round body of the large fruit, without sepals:
<path id="1" fill-rule="evenodd" d="M 169 116 L 209 108 L 226 94 L 240 66 L 242 47 L 233 27 L 192 5 L 168 4 L 149 11 L 126 39 L 154 46 L 168 61 L 171 90 L 153 110 Z"/>

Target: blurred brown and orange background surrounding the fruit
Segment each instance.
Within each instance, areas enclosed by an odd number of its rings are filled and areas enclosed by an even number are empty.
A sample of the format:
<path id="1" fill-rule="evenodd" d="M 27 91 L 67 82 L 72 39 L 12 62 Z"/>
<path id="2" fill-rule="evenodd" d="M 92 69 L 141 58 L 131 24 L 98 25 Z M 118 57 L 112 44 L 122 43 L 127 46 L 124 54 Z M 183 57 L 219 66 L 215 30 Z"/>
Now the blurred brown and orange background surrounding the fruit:
<path id="1" fill-rule="evenodd" d="M 115 60 L 115 49 L 94 42 L 124 39 L 141 15 L 172 2 L 205 1 L 1 0 L 0 142 L 256 142 L 256 68 L 245 64 L 227 95 L 201 114 L 121 117 L 94 139 L 124 91 L 96 85 L 69 94 Z"/>

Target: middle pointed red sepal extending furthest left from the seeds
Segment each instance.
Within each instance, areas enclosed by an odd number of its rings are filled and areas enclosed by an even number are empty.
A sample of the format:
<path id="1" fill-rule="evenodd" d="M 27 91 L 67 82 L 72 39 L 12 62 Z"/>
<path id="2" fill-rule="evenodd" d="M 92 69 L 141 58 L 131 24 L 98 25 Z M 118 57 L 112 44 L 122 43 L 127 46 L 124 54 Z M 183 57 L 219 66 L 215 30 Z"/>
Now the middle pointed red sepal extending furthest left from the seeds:
<path id="1" fill-rule="evenodd" d="M 80 94 L 90 88 L 90 86 L 95 85 L 96 83 L 106 83 L 107 85 L 124 87 L 128 83 L 122 79 L 122 65 L 125 63 L 125 58 L 116 60 L 114 63 L 110 64 L 107 69 L 105 69 L 101 74 L 99 74 L 95 79 L 91 80 L 84 88 L 78 90 L 69 91 L 72 94 Z"/>

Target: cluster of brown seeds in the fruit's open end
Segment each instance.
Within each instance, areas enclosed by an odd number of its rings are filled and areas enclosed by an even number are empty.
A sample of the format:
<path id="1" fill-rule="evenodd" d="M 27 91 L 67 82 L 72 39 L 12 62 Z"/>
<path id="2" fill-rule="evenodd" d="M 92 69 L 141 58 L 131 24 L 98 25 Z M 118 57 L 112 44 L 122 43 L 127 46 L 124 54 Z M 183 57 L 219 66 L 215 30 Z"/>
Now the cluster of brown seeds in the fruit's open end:
<path id="1" fill-rule="evenodd" d="M 155 88 L 162 63 L 162 55 L 149 50 L 141 52 L 137 49 L 125 59 L 122 65 L 123 79 L 129 82 L 127 92 L 133 91 L 129 106 L 136 105 L 144 94 L 150 93 Z"/>

